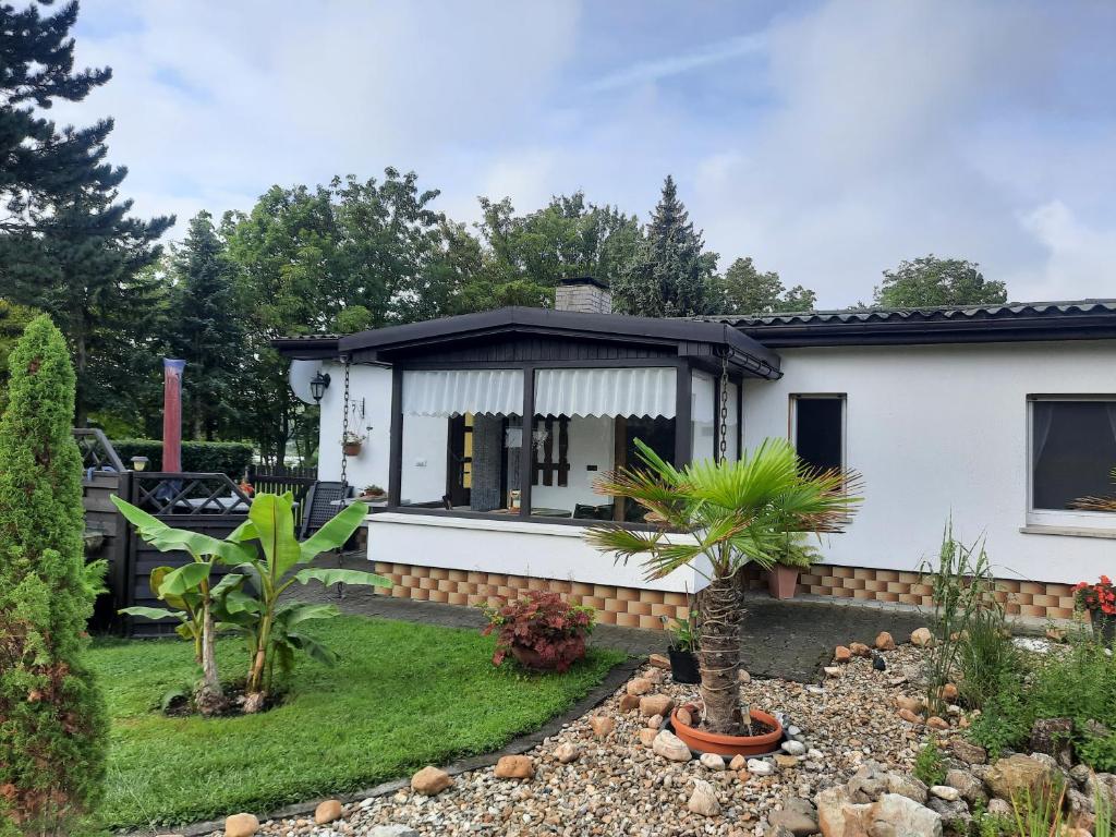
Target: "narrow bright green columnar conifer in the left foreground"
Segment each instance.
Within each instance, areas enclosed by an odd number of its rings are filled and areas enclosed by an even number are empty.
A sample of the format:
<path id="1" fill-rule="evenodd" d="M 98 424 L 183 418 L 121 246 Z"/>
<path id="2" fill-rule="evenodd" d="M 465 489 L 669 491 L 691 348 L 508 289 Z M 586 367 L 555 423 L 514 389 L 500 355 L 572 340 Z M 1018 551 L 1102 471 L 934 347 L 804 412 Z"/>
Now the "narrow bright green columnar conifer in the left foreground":
<path id="1" fill-rule="evenodd" d="M 102 796 L 107 720 L 83 665 L 87 584 L 74 368 L 36 317 L 0 419 L 0 834 L 80 830 Z"/>

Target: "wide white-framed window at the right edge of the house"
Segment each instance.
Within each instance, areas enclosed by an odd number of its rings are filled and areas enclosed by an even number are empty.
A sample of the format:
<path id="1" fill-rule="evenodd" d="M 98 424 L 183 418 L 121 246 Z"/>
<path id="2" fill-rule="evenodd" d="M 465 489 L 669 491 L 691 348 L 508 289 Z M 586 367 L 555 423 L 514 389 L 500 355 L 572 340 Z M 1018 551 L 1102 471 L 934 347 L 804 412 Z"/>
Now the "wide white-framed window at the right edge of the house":
<path id="1" fill-rule="evenodd" d="M 1030 521 L 1112 526 L 1112 514 L 1076 508 L 1116 493 L 1116 396 L 1030 400 Z"/>

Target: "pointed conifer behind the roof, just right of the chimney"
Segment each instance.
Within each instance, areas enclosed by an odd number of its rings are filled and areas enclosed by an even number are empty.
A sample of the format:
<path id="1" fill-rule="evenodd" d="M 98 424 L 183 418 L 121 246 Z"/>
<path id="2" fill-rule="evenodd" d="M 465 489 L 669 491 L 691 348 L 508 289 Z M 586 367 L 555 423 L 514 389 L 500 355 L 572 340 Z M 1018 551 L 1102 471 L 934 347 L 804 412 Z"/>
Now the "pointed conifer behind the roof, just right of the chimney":
<path id="1" fill-rule="evenodd" d="M 643 317 L 705 314 L 715 271 L 716 253 L 705 252 L 702 232 L 667 175 L 635 258 L 613 282 L 613 307 Z"/>

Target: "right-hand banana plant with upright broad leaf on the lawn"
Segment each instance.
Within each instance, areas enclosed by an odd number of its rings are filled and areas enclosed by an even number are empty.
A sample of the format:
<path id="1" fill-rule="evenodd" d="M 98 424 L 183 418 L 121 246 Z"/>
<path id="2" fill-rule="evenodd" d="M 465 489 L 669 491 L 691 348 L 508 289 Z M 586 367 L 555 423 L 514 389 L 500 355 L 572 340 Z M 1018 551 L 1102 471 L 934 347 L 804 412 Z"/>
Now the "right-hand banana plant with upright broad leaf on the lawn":
<path id="1" fill-rule="evenodd" d="M 259 710 L 270 687 L 273 662 L 289 668 L 295 652 L 330 662 L 331 653 L 302 633 L 300 626 L 314 619 L 338 615 L 335 605 L 304 602 L 280 603 L 294 584 L 331 584 L 391 587 L 389 579 L 354 569 L 306 567 L 321 552 L 341 547 L 367 517 L 368 507 L 356 502 L 339 512 L 307 540 L 295 537 L 294 497 L 259 493 L 246 520 L 229 536 L 230 541 L 258 545 L 252 557 L 237 567 L 240 581 L 222 593 L 223 618 L 239 626 L 248 641 L 250 663 L 246 691 L 246 712 Z"/>

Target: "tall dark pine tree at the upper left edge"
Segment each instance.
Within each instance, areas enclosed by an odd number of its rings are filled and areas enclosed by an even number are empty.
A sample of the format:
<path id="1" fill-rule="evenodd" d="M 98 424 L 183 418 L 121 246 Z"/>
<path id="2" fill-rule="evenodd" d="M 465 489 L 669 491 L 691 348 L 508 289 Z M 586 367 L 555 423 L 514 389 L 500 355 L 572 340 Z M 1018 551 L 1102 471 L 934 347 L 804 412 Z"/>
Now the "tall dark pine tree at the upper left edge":
<path id="1" fill-rule="evenodd" d="M 0 6 L 0 201 L 8 213 L 0 287 L 12 301 L 51 314 L 66 334 L 78 376 L 75 421 L 83 425 L 90 410 L 127 400 L 118 373 L 134 372 L 143 357 L 133 336 L 143 334 L 155 292 L 137 275 L 158 257 L 154 242 L 174 219 L 128 215 L 132 203 L 117 192 L 127 170 L 105 162 L 112 119 L 59 128 L 42 116 L 112 76 L 74 73 L 78 4 L 44 17 L 47 6 Z"/>

